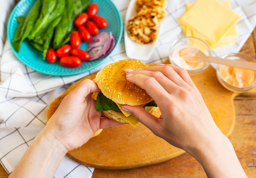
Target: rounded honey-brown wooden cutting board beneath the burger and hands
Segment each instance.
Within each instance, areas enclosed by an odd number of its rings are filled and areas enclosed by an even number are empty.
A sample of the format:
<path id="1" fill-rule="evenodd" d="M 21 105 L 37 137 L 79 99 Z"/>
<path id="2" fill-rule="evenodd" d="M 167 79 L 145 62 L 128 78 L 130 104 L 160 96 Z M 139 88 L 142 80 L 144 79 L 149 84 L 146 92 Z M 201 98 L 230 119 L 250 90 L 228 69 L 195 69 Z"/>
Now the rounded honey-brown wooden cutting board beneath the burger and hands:
<path id="1" fill-rule="evenodd" d="M 93 79 L 95 74 L 83 79 Z M 223 88 L 215 69 L 209 66 L 203 73 L 191 75 L 220 130 L 230 136 L 235 125 L 233 99 L 237 95 Z M 59 103 L 81 81 L 77 81 L 67 91 L 49 105 L 47 119 L 52 116 Z M 159 109 L 153 112 L 159 116 Z M 82 147 L 68 152 L 77 162 L 98 169 L 130 169 L 161 163 L 175 158 L 184 151 L 173 147 L 162 138 L 155 136 L 144 125 L 137 127 L 125 124 L 103 129 L 101 134 L 91 138 Z"/>

